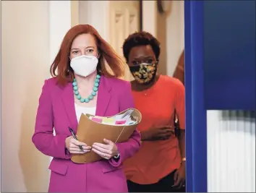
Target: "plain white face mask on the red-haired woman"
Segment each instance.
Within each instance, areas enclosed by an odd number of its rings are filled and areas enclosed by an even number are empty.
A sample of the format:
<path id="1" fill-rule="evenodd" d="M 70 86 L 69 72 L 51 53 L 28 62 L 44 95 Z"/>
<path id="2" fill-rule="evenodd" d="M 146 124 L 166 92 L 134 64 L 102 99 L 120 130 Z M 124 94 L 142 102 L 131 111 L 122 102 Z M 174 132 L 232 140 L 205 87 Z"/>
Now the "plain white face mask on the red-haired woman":
<path id="1" fill-rule="evenodd" d="M 98 59 L 95 56 L 77 56 L 70 61 L 70 67 L 74 73 L 82 77 L 88 77 L 97 69 Z"/>

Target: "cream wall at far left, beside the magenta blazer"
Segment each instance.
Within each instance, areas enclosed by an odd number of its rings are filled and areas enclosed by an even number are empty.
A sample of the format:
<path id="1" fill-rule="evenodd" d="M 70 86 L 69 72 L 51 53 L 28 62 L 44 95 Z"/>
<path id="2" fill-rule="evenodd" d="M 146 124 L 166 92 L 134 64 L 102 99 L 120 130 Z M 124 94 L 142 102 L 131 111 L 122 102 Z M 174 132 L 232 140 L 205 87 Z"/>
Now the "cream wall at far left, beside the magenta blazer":
<path id="1" fill-rule="evenodd" d="M 48 76 L 48 1 L 1 2 L 1 191 L 45 192 L 48 158 L 33 146 Z"/>

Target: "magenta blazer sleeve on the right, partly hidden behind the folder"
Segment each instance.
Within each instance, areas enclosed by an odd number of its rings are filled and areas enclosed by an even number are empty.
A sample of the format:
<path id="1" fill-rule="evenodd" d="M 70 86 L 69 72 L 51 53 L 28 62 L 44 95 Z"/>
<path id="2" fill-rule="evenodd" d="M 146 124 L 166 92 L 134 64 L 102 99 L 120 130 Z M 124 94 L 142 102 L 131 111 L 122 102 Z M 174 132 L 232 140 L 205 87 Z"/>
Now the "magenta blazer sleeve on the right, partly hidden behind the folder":
<path id="1" fill-rule="evenodd" d="M 135 103 L 132 98 L 132 90 L 129 82 L 125 82 L 124 90 L 120 90 L 121 98 L 119 99 L 120 111 L 124 111 L 127 108 L 135 108 Z M 114 160 L 114 158 L 108 160 L 114 167 L 121 166 L 121 163 L 124 162 L 127 158 L 132 157 L 141 146 L 141 137 L 140 132 L 135 130 L 132 136 L 129 138 L 127 142 L 116 143 L 116 146 L 119 150 L 119 160 Z"/>

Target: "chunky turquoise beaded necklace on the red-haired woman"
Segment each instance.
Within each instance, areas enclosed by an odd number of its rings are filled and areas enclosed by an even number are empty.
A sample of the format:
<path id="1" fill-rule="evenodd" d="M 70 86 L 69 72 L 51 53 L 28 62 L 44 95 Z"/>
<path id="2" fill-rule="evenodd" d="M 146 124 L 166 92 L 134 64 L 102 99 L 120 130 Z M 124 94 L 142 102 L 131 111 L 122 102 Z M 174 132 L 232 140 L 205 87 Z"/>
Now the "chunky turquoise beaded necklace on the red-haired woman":
<path id="1" fill-rule="evenodd" d="M 95 97 L 95 95 L 98 92 L 98 85 L 100 83 L 100 79 L 101 79 L 101 75 L 97 74 L 94 85 L 93 85 L 93 92 L 90 93 L 90 96 L 88 98 L 82 98 L 80 93 L 78 92 L 77 81 L 74 78 L 73 83 L 72 83 L 74 95 L 77 96 L 77 99 L 80 100 L 81 103 L 89 103 L 90 100 L 93 100 L 93 98 Z"/>

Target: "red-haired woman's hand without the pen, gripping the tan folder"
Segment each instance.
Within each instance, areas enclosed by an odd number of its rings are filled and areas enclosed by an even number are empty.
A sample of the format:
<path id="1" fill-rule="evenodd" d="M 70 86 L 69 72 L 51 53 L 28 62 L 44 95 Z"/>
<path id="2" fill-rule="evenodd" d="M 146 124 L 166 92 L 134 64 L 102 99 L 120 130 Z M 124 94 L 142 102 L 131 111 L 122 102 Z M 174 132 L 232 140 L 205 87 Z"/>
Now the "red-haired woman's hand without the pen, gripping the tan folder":
<path id="1" fill-rule="evenodd" d="M 106 144 L 95 142 L 93 143 L 93 151 L 100 155 L 102 158 L 107 160 L 113 158 L 116 155 L 119 155 L 116 144 L 111 142 L 111 140 L 103 140 Z"/>

